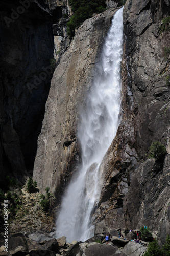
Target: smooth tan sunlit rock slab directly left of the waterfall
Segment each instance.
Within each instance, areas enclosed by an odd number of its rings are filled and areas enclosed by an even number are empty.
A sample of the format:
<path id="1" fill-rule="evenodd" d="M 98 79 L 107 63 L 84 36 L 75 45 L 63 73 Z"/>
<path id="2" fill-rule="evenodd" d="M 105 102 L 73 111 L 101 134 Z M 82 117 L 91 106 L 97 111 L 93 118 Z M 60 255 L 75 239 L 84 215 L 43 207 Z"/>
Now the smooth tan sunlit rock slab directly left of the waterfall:
<path id="1" fill-rule="evenodd" d="M 84 22 L 54 72 L 34 164 L 33 178 L 42 192 L 49 186 L 60 194 L 79 167 L 79 111 L 114 12 L 109 9 Z"/>

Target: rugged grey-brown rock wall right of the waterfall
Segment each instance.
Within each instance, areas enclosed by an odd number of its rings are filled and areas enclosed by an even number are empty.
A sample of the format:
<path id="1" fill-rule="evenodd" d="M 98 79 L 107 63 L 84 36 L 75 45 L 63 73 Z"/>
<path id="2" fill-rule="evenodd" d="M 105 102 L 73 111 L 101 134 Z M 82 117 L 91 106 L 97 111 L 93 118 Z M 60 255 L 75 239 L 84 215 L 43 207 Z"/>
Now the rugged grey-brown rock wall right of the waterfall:
<path id="1" fill-rule="evenodd" d="M 129 229 L 150 227 L 165 242 L 169 233 L 169 15 L 168 1 L 129 0 L 124 8 L 122 123 L 103 164 L 106 182 L 96 222 Z M 148 159 L 152 142 L 166 147 L 160 168 Z"/>

